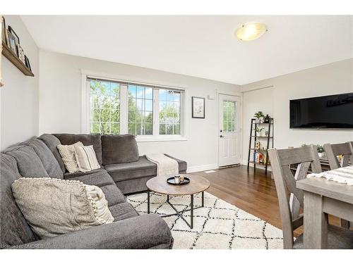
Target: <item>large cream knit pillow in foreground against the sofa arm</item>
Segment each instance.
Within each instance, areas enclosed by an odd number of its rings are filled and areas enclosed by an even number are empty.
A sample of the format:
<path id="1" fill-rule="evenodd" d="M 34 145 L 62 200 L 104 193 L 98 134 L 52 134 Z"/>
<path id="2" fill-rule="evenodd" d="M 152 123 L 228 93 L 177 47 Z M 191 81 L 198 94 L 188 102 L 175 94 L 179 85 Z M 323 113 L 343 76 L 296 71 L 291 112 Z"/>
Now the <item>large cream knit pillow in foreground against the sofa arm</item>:
<path id="1" fill-rule="evenodd" d="M 11 187 L 25 219 L 42 239 L 114 221 L 102 189 L 96 186 L 21 177 Z"/>

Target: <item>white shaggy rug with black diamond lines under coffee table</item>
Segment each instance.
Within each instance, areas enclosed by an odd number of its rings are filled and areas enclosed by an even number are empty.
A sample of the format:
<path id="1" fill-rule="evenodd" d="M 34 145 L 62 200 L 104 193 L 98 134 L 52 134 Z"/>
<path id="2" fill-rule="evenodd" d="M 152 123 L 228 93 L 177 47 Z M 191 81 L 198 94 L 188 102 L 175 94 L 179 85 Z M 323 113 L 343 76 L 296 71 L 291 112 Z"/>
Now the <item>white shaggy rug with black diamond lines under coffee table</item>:
<path id="1" fill-rule="evenodd" d="M 167 196 L 152 194 L 150 212 L 175 213 Z M 133 194 L 127 201 L 138 211 L 147 213 L 147 193 Z M 190 208 L 190 196 L 170 196 L 177 210 Z M 194 196 L 194 206 L 201 205 L 201 194 Z M 163 218 L 174 237 L 173 249 L 283 249 L 282 230 L 250 213 L 205 192 L 205 206 L 193 210 L 193 229 L 178 215 Z M 190 222 L 190 210 L 183 213 Z"/>

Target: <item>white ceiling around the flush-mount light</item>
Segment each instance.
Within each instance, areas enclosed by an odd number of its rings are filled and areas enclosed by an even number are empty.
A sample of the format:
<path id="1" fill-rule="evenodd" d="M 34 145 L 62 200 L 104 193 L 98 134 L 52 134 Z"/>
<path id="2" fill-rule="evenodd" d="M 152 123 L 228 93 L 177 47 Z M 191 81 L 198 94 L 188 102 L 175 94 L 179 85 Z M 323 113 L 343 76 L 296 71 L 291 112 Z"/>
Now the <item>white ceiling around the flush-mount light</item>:
<path id="1" fill-rule="evenodd" d="M 353 57 L 353 16 L 40 16 L 23 22 L 41 49 L 246 84 Z M 241 42 L 234 30 L 263 22 Z"/>

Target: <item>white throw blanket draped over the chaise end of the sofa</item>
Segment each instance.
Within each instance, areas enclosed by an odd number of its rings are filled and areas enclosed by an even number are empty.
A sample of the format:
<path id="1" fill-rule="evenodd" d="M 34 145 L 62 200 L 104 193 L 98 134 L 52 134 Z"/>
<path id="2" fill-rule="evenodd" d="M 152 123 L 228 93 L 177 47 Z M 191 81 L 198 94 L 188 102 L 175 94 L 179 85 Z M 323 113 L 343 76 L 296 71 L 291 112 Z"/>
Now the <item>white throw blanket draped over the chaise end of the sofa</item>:
<path id="1" fill-rule="evenodd" d="M 157 164 L 157 176 L 173 177 L 179 173 L 178 162 L 164 154 L 146 154 L 146 158 Z"/>

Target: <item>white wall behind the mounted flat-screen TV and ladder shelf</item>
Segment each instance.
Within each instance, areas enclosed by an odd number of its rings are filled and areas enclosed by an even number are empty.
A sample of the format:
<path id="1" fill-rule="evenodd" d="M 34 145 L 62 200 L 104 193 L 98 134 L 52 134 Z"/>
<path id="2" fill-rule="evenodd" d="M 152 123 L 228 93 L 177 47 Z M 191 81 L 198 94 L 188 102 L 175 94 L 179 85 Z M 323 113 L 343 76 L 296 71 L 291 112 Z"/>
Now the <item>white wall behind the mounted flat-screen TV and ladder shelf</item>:
<path id="1" fill-rule="evenodd" d="M 289 129 L 290 99 L 353 92 L 353 58 L 242 85 L 241 91 L 244 92 L 244 163 L 249 149 L 250 119 L 256 111 L 274 118 L 276 148 L 353 140 L 353 130 Z"/>

